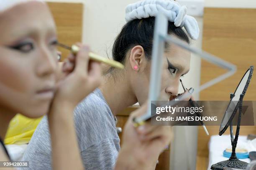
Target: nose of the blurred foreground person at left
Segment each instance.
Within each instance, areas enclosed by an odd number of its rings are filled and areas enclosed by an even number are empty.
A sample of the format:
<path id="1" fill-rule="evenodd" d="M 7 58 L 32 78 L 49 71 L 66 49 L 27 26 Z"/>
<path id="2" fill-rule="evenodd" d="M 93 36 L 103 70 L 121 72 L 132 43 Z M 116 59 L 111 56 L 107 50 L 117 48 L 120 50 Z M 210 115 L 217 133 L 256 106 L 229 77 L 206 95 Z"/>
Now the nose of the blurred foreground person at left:
<path id="1" fill-rule="evenodd" d="M 54 56 L 54 53 L 45 47 L 40 49 L 37 59 L 36 74 L 38 76 L 49 76 L 56 72 L 57 54 Z"/>

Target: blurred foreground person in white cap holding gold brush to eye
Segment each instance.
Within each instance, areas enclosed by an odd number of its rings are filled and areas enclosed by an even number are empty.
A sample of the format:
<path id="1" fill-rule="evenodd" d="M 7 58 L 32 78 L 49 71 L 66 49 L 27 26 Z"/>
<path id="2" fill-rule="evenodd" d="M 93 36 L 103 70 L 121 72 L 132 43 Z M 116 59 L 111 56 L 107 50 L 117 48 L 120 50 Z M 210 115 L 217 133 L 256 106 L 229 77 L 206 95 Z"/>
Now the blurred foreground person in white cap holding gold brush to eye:
<path id="1" fill-rule="evenodd" d="M 84 169 L 73 109 L 100 85 L 100 64 L 89 63 L 90 50 L 81 46 L 74 71 L 63 67 L 65 76 L 56 81 L 60 69 L 56 27 L 42 1 L 1 0 L 0 25 L 0 161 L 11 160 L 3 139 L 15 114 L 29 118 L 48 114 L 53 169 Z"/>

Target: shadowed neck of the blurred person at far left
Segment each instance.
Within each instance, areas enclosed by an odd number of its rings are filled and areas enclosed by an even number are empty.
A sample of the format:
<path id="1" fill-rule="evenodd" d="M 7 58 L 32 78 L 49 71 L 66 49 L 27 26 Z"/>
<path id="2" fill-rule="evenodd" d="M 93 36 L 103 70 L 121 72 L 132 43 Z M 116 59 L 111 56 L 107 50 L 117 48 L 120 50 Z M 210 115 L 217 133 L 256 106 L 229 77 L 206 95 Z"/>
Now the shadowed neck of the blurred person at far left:
<path id="1" fill-rule="evenodd" d="M 11 119 L 15 116 L 15 113 L 10 112 L 7 109 L 4 109 L 3 107 L 0 107 L 0 138 L 2 140 L 5 139 L 5 135 L 9 126 L 9 123 Z"/>

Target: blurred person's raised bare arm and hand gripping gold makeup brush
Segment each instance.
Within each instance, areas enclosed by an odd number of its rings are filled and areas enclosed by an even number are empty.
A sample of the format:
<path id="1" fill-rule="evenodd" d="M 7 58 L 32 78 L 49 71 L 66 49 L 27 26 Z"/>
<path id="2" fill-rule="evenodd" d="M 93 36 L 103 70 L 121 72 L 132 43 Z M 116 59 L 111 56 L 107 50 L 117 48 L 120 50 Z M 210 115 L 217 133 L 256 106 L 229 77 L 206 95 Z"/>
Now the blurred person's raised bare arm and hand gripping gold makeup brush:
<path id="1" fill-rule="evenodd" d="M 84 170 L 74 125 L 74 108 L 101 82 L 100 64 L 89 62 L 89 48 L 82 46 L 77 56 L 69 56 L 60 70 L 58 83 L 48 114 L 51 133 L 53 170 Z"/>

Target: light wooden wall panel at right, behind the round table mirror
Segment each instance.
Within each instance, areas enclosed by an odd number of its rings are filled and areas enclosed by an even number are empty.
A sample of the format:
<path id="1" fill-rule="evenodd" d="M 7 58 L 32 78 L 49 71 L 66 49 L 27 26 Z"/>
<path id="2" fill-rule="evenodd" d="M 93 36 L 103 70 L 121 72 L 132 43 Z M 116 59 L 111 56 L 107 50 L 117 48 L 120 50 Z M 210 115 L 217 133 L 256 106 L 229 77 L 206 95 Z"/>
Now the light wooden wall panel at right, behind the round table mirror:
<path id="1" fill-rule="evenodd" d="M 200 100 L 229 100 L 241 77 L 249 66 L 256 66 L 256 9 L 205 8 L 203 24 L 203 50 L 237 66 L 230 78 L 200 93 Z M 201 84 L 223 74 L 225 70 L 202 61 Z M 256 100 L 256 72 L 251 79 L 244 100 Z M 224 113 L 223 113 L 224 114 Z M 218 134 L 218 126 L 207 127 L 210 135 Z M 225 134 L 229 133 L 229 129 Z M 256 134 L 255 126 L 241 127 L 241 134 Z M 208 162 L 207 136 L 199 127 L 197 170 L 205 170 Z"/>

